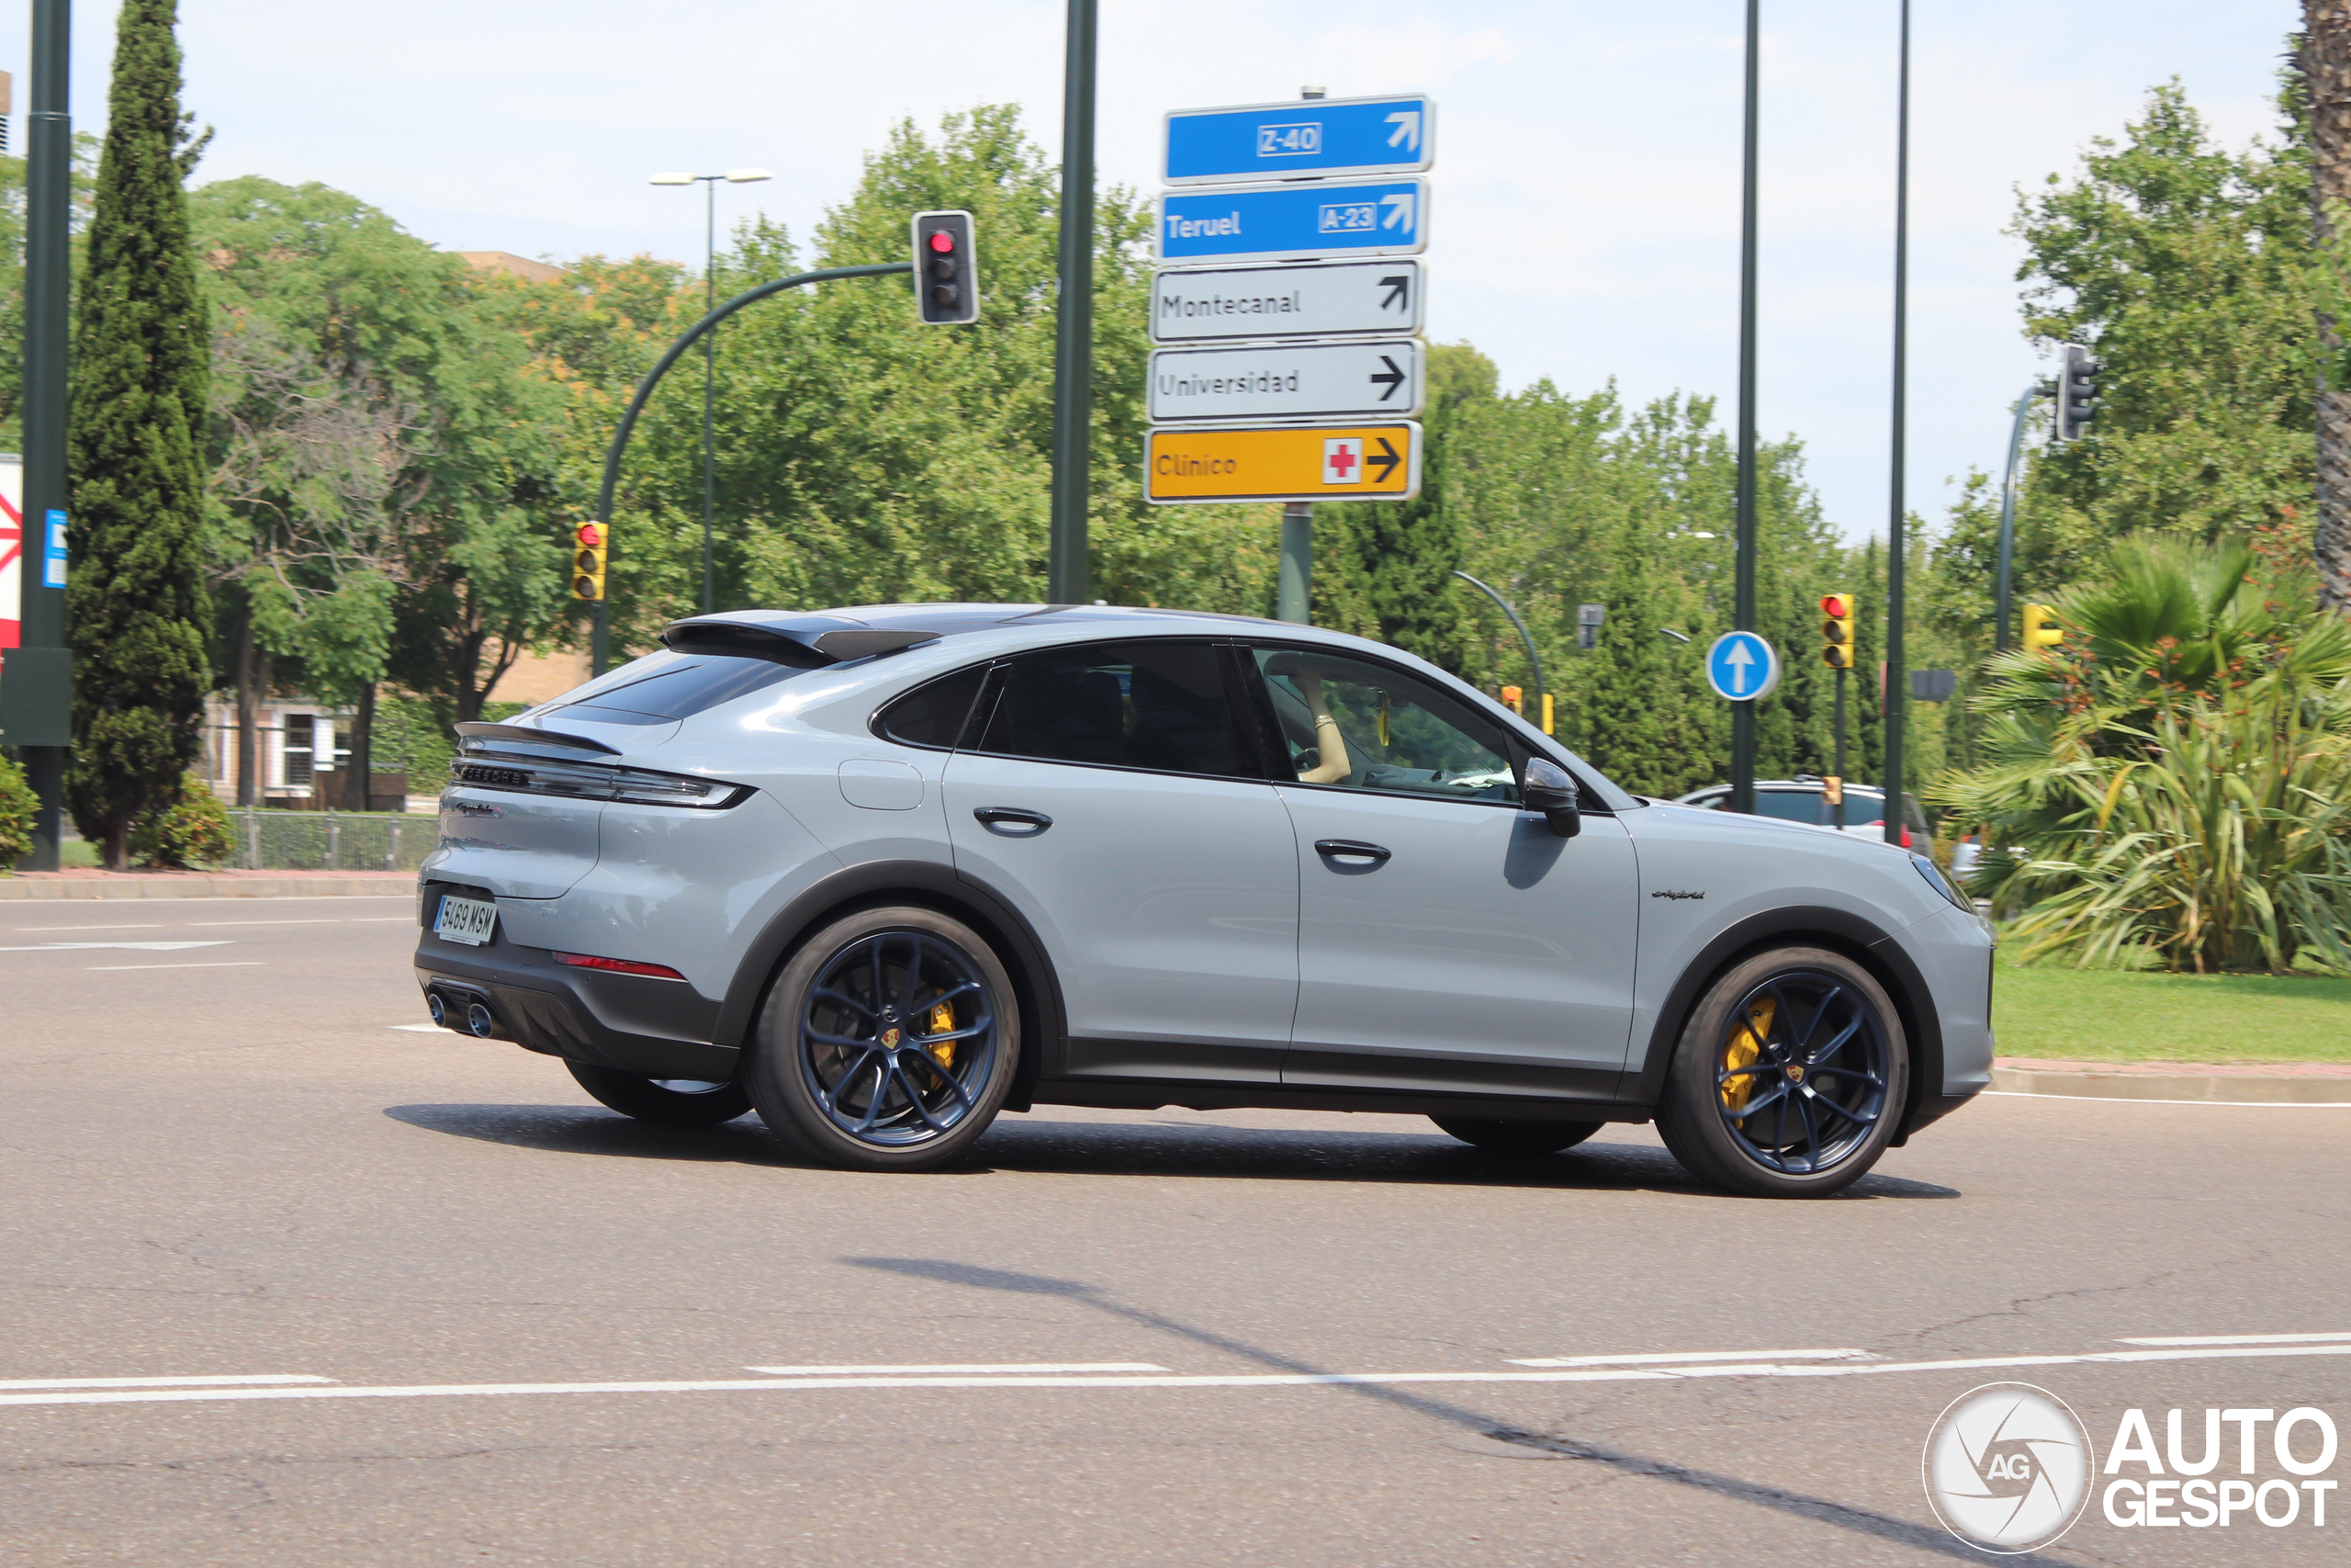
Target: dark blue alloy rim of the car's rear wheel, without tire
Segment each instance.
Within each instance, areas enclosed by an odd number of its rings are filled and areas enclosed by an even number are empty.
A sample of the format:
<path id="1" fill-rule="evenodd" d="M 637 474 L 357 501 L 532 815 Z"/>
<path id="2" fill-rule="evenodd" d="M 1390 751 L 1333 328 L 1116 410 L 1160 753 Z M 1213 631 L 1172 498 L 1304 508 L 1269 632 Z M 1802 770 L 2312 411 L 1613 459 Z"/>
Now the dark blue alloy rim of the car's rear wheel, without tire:
<path id="1" fill-rule="evenodd" d="M 799 1013 L 799 1070 L 849 1138 L 903 1150 L 950 1133 L 994 1070 L 997 1018 L 978 964 L 924 931 L 832 954 Z"/>

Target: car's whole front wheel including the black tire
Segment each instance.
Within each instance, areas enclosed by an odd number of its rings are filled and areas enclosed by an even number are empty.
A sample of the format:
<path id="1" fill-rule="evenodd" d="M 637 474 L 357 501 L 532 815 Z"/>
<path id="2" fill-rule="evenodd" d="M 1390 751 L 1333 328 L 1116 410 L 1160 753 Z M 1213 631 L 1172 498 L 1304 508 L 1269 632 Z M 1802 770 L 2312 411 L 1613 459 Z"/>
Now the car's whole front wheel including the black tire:
<path id="1" fill-rule="evenodd" d="M 1702 1182 L 1829 1197 L 1878 1161 L 1907 1103 L 1909 1041 L 1886 987 L 1838 952 L 1775 947 L 1697 1001 L 1657 1131 Z"/>

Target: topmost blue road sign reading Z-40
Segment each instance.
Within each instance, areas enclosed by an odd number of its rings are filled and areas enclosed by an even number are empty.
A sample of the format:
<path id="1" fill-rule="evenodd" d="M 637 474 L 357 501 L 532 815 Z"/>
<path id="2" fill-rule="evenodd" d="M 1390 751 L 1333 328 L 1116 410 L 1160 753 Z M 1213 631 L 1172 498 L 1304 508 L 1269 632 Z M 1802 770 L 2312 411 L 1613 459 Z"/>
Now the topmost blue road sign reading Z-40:
<path id="1" fill-rule="evenodd" d="M 1201 186 L 1300 174 L 1418 174 L 1436 158 L 1436 103 L 1291 99 L 1168 113 L 1166 183 Z"/>

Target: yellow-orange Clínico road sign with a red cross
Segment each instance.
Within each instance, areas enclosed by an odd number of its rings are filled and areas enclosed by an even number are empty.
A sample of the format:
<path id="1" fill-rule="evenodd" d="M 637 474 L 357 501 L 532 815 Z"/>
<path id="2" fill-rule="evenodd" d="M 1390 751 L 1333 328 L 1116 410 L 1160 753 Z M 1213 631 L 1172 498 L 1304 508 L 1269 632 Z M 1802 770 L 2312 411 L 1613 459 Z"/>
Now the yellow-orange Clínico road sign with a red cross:
<path id="1" fill-rule="evenodd" d="M 1411 501 L 1420 425 L 1159 425 L 1143 456 L 1150 501 Z"/>

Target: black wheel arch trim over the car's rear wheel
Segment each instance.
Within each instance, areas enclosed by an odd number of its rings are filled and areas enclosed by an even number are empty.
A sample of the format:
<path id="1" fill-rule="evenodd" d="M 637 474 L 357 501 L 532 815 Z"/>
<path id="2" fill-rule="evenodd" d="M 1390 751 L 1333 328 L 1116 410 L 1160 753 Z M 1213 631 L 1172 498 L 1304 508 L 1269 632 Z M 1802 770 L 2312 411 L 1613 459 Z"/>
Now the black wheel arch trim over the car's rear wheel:
<path id="1" fill-rule="evenodd" d="M 849 865 L 804 889 L 792 903 L 776 910 L 759 936 L 743 954 L 726 999 L 719 1004 L 717 1044 L 752 1044 L 752 1023 L 766 1004 L 766 992 L 795 952 L 820 926 L 879 905 L 919 905 L 964 922 L 978 931 L 1004 969 L 1013 978 L 1013 999 L 1020 1004 L 1023 1051 L 1013 1074 L 1004 1110 L 1027 1110 L 1044 1074 L 1046 1056 L 1060 1058 L 1067 1034 L 1067 1011 L 1060 999 L 1060 980 L 1046 959 L 1037 931 L 1020 917 L 1011 900 L 985 884 L 971 882 L 950 865 L 933 860 L 870 860 Z M 1032 1046 L 1032 1048 L 1030 1048 Z"/>

